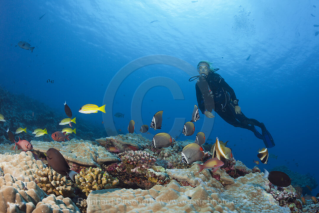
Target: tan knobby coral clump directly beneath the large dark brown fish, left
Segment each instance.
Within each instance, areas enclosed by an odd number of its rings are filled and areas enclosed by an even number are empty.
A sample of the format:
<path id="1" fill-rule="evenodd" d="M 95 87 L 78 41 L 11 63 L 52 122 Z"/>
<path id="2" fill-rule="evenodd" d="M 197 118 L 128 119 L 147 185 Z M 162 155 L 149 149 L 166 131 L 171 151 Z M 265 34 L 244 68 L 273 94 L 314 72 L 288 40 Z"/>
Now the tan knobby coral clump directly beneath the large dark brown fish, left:
<path id="1" fill-rule="evenodd" d="M 35 171 L 33 177 L 34 182 L 47 194 L 63 195 L 63 197 L 75 196 L 72 182 L 51 168 L 41 166 Z"/>

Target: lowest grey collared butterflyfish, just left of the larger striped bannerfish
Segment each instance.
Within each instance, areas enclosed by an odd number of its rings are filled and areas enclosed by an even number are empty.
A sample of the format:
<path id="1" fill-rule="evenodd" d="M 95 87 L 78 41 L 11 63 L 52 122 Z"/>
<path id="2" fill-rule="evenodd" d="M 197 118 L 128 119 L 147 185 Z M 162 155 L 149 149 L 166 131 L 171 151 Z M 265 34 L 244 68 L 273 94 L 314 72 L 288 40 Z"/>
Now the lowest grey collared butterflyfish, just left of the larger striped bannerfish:
<path id="1" fill-rule="evenodd" d="M 182 161 L 187 164 L 199 161 L 204 156 L 197 143 L 190 143 L 182 150 Z"/>

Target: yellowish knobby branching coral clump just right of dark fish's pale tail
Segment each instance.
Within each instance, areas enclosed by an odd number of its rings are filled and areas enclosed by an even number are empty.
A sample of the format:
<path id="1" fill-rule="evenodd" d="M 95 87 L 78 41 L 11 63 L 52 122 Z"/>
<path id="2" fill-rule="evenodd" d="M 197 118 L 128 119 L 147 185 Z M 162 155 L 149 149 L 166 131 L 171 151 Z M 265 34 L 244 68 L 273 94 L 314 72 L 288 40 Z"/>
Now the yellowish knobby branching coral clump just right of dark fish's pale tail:
<path id="1" fill-rule="evenodd" d="M 115 188 L 119 180 L 100 168 L 90 167 L 86 170 L 82 169 L 80 174 L 75 176 L 75 182 L 78 184 L 78 188 L 88 196 L 94 190 Z"/>

